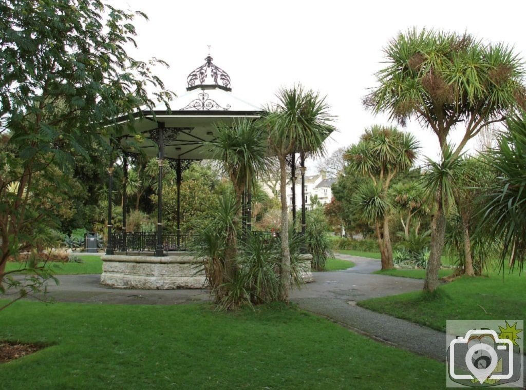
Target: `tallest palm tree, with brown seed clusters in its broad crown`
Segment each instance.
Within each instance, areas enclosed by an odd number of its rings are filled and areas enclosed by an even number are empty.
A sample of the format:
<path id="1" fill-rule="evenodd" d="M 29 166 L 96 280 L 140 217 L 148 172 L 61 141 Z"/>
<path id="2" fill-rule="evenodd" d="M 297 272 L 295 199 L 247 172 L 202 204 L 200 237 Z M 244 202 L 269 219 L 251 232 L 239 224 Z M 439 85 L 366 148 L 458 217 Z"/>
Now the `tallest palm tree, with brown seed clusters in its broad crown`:
<path id="1" fill-rule="evenodd" d="M 450 153 L 461 155 L 466 143 L 510 110 L 526 107 L 525 70 L 513 48 L 485 43 L 468 34 L 409 30 L 392 39 L 385 49 L 387 66 L 377 74 L 378 86 L 364 99 L 373 112 L 385 112 L 404 124 L 416 119 L 434 132 L 442 152 L 453 128 L 463 128 L 461 141 Z M 431 266 L 425 291 L 438 286 L 438 269 L 446 232 L 446 216 L 437 212 L 431 229 Z"/>

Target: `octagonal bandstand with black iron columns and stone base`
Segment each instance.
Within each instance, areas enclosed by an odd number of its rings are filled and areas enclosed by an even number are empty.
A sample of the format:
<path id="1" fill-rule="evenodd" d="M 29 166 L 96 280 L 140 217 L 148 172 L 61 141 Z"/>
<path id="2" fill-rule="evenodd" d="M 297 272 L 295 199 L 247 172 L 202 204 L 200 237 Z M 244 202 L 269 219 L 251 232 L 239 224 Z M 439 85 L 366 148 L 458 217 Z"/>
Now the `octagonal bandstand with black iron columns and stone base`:
<path id="1" fill-rule="evenodd" d="M 196 271 L 201 262 L 190 249 L 190 235 L 180 229 L 179 189 L 182 173 L 194 161 L 210 159 L 206 142 L 214 140 L 218 122 L 231 125 L 239 118 L 258 120 L 263 112 L 256 106 L 232 94 L 230 76 L 207 56 L 205 64 L 187 77 L 187 93 L 170 104 L 171 110 L 155 109 L 154 112 L 137 112 L 133 122 L 120 118 L 122 136 L 114 144 L 122 160 L 124 181 L 127 180 L 128 159 L 140 153 L 157 158 L 159 167 L 167 160 L 176 172 L 177 183 L 177 230 L 163 230 L 163 172 L 159 169 L 157 183 L 156 232 L 127 232 L 126 185 L 123 186 L 123 228 L 115 231 L 112 221 L 113 171 L 115 161 L 108 167 L 108 244 L 101 283 L 114 288 L 134 289 L 192 289 L 205 288 L 204 272 Z M 141 114 L 141 115 L 139 115 Z M 130 128 L 133 127 L 133 128 Z M 133 130 L 133 131 L 132 131 Z M 288 162 L 291 167 L 292 189 L 296 188 L 296 167 L 299 163 L 301 177 L 301 228 L 305 233 L 305 156 L 293 153 Z M 124 183 L 126 184 L 126 183 Z M 293 194 L 295 201 L 296 196 Z M 244 197 L 243 218 L 248 234 L 266 235 L 270 232 L 251 232 L 250 194 Z M 292 205 L 292 217 L 296 220 L 296 205 Z M 304 256 L 302 272 L 305 281 L 312 280 L 310 259 Z"/>

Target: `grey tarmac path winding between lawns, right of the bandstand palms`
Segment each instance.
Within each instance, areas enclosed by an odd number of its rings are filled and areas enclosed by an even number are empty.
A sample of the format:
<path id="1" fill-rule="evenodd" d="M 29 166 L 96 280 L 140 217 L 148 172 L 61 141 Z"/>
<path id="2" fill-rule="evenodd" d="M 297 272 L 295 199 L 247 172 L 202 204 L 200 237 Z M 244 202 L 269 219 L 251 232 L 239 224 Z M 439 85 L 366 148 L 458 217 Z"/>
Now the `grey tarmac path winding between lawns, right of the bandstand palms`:
<path id="1" fill-rule="evenodd" d="M 293 302 L 376 340 L 446 360 L 445 333 L 356 305 L 361 300 L 421 290 L 422 280 L 372 274 L 380 269 L 379 260 L 339 253 L 336 257 L 356 266 L 345 271 L 314 273 L 315 282 L 294 291 Z"/>

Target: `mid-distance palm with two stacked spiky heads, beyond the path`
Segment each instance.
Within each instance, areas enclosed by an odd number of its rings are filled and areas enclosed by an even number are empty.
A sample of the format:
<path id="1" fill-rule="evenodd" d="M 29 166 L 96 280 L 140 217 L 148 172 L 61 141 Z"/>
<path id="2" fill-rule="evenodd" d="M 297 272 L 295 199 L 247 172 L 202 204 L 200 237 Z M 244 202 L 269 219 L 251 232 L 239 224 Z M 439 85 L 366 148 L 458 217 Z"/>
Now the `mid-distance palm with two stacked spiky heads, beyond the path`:
<path id="1" fill-rule="evenodd" d="M 370 181 L 358 188 L 356 211 L 375 227 L 382 270 L 393 268 L 388 191 L 393 178 L 408 171 L 417 158 L 417 140 L 396 128 L 372 126 L 345 154 L 349 170 Z"/>

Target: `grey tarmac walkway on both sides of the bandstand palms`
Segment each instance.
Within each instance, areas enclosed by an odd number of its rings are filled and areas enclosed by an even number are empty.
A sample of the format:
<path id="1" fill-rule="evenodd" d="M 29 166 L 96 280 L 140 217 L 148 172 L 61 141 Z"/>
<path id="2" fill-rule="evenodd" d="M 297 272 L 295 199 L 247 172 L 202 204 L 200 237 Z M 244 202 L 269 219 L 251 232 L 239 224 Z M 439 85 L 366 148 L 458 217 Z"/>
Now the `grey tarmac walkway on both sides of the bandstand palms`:
<path id="1" fill-rule="evenodd" d="M 302 309 L 320 314 L 358 333 L 390 345 L 445 360 L 446 335 L 408 321 L 379 314 L 356 305 L 373 297 L 422 289 L 423 281 L 376 275 L 380 261 L 337 254 L 356 266 L 337 272 L 315 272 L 315 282 L 292 292 Z M 49 295 L 59 302 L 183 304 L 209 301 L 207 290 L 119 290 L 99 283 L 100 275 L 59 275 L 59 285 L 48 284 Z"/>

